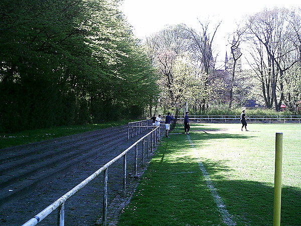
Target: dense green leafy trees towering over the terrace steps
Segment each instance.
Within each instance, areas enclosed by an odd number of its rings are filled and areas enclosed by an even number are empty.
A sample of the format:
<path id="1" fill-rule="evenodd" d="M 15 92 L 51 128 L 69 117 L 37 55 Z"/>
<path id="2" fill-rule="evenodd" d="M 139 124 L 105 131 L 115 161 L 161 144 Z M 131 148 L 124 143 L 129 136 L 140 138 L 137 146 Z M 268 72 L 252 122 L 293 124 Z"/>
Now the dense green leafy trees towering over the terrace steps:
<path id="1" fill-rule="evenodd" d="M 117 0 L 0 3 L 0 131 L 134 118 L 155 73 Z"/>

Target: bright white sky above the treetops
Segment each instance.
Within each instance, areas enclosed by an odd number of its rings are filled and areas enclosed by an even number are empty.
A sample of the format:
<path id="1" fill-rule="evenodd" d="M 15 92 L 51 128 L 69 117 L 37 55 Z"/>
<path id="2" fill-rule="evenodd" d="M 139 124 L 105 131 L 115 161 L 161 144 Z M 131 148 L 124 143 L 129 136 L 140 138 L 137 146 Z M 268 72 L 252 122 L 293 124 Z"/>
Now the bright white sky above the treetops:
<path id="1" fill-rule="evenodd" d="M 235 31 L 242 18 L 274 7 L 301 7 L 299 0 L 123 0 L 120 10 L 133 27 L 134 35 L 144 40 L 166 26 L 186 24 L 198 29 L 199 21 L 210 21 L 214 26 L 222 21 L 214 42 L 220 61 L 224 61 L 229 34 Z M 233 12 L 235 12 L 233 14 Z"/>

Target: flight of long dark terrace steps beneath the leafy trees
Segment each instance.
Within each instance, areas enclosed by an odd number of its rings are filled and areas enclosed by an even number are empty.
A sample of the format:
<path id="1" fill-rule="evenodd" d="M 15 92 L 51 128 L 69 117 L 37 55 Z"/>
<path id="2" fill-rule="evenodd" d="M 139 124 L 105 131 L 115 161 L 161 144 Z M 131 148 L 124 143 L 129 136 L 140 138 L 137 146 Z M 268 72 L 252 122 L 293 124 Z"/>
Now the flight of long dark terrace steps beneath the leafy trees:
<path id="1" fill-rule="evenodd" d="M 84 135 L 60 138 L 57 141 L 38 142 L 38 145 L 33 144 L 32 146 L 34 151 L 30 145 L 9 148 L 11 152 L 16 152 L 16 156 L 19 157 L 16 157 L 15 161 L 10 160 L 0 166 L 2 172 L 0 175 L 0 206 L 31 193 L 34 189 L 76 169 L 95 157 L 103 155 L 105 152 L 112 151 L 114 146 L 127 141 L 126 133 L 127 127 L 122 126 L 114 128 L 106 134 L 99 130 L 96 134 L 95 132 L 88 132 Z M 113 139 L 108 139 L 110 137 Z M 72 145 L 69 139 L 76 139 L 75 142 L 79 144 Z M 30 153 L 25 158 L 22 154 L 22 148 L 24 148 L 24 152 Z M 60 149 L 60 151 L 55 151 L 56 149 Z M 19 151 L 17 152 L 17 150 Z M 9 157 L 10 151 L 6 149 L 5 155 Z"/>

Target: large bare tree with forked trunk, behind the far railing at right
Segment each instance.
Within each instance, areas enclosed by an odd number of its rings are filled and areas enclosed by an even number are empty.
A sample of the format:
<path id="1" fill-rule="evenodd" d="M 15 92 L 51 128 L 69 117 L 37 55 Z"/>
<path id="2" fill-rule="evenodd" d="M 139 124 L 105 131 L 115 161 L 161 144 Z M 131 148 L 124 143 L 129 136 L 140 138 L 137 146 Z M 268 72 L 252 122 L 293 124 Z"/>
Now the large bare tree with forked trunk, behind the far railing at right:
<path id="1" fill-rule="evenodd" d="M 297 48 L 286 38 L 286 34 L 289 33 L 287 14 L 286 9 L 265 10 L 251 16 L 247 23 L 249 33 L 264 46 L 267 54 L 266 59 L 270 64 L 268 73 L 271 75 L 271 93 L 276 111 L 280 110 L 280 105 L 284 100 L 284 74 L 299 62 L 298 59 L 289 59 L 291 53 Z M 279 93 L 279 99 L 277 99 L 277 93 Z"/>

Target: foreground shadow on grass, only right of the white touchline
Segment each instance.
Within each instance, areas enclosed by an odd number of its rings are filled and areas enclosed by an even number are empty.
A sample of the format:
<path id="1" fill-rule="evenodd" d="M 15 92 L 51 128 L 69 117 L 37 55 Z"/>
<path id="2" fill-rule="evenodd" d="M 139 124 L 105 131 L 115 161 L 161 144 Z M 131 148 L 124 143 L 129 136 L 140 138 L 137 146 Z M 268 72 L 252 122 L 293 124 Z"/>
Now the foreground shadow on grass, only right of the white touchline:
<path id="1" fill-rule="evenodd" d="M 274 188 L 268 184 L 231 180 L 219 172 L 231 171 L 224 162 L 203 161 L 212 182 L 227 210 L 234 215 L 238 225 L 271 225 L 273 220 Z M 281 225 L 301 225 L 301 190 L 297 187 L 282 187 Z"/>

